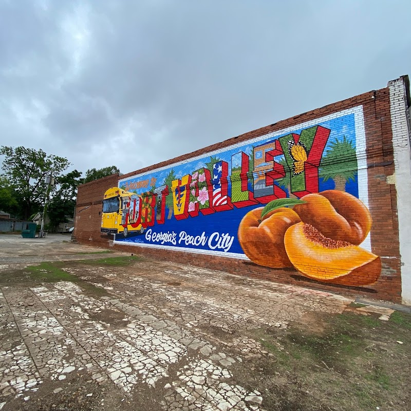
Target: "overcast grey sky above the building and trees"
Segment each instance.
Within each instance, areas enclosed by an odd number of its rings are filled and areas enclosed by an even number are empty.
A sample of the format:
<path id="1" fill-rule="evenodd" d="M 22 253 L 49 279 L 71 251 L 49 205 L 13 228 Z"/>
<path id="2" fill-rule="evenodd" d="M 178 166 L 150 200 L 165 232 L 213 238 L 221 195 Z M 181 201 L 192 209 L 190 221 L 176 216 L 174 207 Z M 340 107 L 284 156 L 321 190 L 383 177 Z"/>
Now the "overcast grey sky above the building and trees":
<path id="1" fill-rule="evenodd" d="M 411 2 L 0 0 L 0 144 L 140 169 L 411 74 Z"/>

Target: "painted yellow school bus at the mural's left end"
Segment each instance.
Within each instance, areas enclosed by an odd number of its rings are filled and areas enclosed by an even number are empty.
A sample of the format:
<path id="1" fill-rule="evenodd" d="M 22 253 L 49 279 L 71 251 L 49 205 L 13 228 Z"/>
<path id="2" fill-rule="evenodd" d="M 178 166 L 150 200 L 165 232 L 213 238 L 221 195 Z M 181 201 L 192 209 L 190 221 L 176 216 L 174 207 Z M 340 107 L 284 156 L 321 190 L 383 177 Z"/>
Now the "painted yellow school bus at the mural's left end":
<path id="1" fill-rule="evenodd" d="M 101 216 L 102 233 L 142 234 L 144 227 L 139 223 L 141 196 L 113 187 L 104 193 Z"/>

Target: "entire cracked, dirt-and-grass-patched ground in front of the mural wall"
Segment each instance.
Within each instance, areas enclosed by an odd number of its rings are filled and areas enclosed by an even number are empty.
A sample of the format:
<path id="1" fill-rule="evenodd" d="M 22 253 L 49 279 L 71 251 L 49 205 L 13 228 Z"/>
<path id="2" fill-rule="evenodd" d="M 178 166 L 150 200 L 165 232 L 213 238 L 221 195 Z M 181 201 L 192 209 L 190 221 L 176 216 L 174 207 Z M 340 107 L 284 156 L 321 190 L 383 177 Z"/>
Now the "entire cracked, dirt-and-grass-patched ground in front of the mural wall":
<path id="1" fill-rule="evenodd" d="M 67 239 L 0 235 L 4 411 L 409 409 L 409 314 Z"/>

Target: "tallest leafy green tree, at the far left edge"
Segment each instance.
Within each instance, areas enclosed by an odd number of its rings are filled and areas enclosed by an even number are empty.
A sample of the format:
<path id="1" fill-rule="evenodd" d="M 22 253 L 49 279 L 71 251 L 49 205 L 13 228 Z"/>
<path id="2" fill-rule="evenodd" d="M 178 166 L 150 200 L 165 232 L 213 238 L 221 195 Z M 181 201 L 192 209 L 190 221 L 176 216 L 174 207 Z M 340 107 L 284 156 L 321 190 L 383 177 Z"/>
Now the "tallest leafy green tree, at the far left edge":
<path id="1" fill-rule="evenodd" d="M 55 155 L 48 155 L 43 150 L 33 150 L 25 147 L 0 148 L 3 161 L 4 176 L 9 179 L 21 201 L 21 216 L 27 219 L 34 209 L 44 202 L 47 184 L 46 176 L 59 176 L 70 162 Z"/>

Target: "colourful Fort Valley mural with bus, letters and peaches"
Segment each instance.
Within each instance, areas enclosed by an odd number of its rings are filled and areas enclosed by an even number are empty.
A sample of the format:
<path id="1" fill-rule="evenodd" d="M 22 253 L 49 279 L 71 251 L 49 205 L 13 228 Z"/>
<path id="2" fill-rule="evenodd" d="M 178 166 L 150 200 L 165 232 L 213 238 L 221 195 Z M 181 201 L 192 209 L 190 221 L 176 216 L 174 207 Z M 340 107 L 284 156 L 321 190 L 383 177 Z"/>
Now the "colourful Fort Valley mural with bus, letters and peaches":
<path id="1" fill-rule="evenodd" d="M 135 244 L 244 258 L 317 281 L 368 285 L 381 273 L 362 107 L 119 181 L 102 232 Z"/>

